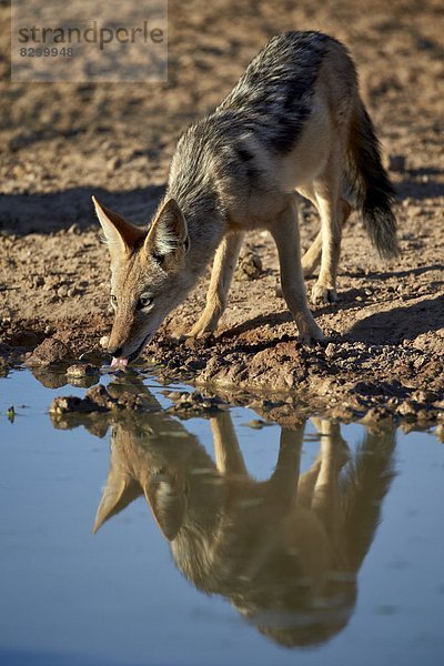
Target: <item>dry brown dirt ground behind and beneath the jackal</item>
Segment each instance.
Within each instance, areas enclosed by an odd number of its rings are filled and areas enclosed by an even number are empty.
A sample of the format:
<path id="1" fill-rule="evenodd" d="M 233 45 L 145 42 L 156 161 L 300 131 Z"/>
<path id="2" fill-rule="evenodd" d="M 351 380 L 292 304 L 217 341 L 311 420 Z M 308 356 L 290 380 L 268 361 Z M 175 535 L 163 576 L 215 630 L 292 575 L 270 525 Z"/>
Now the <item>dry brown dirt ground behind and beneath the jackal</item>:
<path id="1" fill-rule="evenodd" d="M 327 340 L 303 347 L 275 294 L 271 238 L 253 233 L 216 336 L 169 339 L 199 316 L 205 276 L 147 357 L 167 377 L 216 385 L 234 398 L 256 393 L 271 411 L 281 393 L 286 404 L 343 418 L 444 420 L 442 1 L 170 0 L 169 20 L 167 84 L 11 83 L 9 9 L 0 3 L 3 372 L 44 339 L 65 343 L 72 357 L 99 350 L 111 325 L 109 261 L 91 194 L 148 222 L 186 124 L 222 100 L 272 34 L 316 29 L 344 41 L 356 61 L 398 193 L 401 258 L 381 261 L 351 220 L 340 301 L 314 309 Z M 302 202 L 304 248 L 317 229 Z M 262 269 L 250 271 L 256 255 Z"/>

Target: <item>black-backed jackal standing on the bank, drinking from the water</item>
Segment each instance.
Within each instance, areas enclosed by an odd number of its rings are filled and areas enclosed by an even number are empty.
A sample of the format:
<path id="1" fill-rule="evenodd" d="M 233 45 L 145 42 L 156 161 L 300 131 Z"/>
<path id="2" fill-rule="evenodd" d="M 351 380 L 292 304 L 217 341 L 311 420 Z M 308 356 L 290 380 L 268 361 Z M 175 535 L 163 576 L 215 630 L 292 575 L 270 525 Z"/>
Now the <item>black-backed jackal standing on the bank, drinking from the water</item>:
<path id="1" fill-rule="evenodd" d="M 302 263 L 295 190 L 321 216 Z M 114 366 L 140 355 L 213 258 L 206 306 L 191 335 L 216 327 L 251 229 L 268 229 L 276 243 L 282 292 L 303 340 L 322 339 L 303 276 L 321 262 L 313 301 L 336 299 L 352 210 L 383 256 L 397 252 L 393 189 L 353 61 L 319 32 L 272 38 L 220 107 L 184 132 L 148 230 L 94 204 L 111 254 Z"/>

